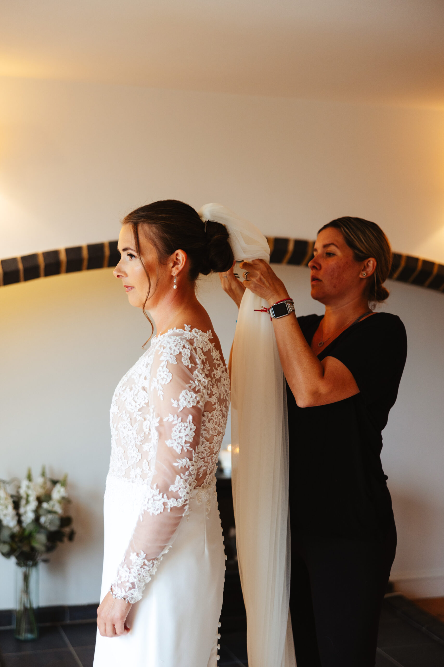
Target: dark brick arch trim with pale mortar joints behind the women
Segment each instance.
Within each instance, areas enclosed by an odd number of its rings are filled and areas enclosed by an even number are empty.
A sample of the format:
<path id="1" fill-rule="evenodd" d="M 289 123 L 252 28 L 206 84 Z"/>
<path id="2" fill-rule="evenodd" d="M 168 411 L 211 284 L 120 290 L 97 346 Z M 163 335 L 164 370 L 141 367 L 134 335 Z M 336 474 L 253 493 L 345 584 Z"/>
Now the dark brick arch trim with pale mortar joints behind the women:
<path id="1" fill-rule="evenodd" d="M 274 264 L 306 266 L 313 256 L 314 241 L 267 237 Z M 59 273 L 115 266 L 119 259 L 117 241 L 76 245 L 75 247 L 33 253 L 0 260 L 0 286 L 21 283 Z M 437 262 L 393 253 L 389 277 L 411 285 L 444 292 L 444 265 Z"/>

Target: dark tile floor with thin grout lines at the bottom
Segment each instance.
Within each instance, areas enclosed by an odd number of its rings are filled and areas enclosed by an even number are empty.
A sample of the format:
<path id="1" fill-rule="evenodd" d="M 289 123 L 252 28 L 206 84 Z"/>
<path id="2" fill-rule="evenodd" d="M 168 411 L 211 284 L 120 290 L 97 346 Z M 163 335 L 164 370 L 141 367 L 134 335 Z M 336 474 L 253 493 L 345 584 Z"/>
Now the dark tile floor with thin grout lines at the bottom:
<path id="1" fill-rule="evenodd" d="M 222 632 L 219 667 L 247 667 L 246 633 Z M 0 630 L 2 667 L 92 667 L 93 621 L 42 626 L 36 642 L 18 642 Z M 444 644 L 401 618 L 388 602 L 379 626 L 376 667 L 443 667 Z"/>

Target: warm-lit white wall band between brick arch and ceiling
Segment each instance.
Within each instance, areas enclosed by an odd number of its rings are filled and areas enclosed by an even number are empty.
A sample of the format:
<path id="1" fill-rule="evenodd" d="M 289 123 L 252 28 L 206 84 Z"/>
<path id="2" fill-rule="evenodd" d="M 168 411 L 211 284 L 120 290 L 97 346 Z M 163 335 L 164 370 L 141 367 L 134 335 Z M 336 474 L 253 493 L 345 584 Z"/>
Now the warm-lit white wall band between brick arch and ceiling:
<path id="1" fill-rule="evenodd" d="M 0 257 L 105 241 L 155 199 L 270 235 L 338 215 L 444 262 L 444 111 L 0 78 Z"/>

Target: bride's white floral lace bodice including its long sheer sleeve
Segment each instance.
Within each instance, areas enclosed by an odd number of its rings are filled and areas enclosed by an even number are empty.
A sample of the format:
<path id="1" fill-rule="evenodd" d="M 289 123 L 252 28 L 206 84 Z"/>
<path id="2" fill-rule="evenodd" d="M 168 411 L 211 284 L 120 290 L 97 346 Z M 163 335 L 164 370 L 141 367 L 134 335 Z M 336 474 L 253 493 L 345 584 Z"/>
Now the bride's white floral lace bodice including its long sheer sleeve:
<path id="1" fill-rule="evenodd" d="M 230 404 L 230 380 L 212 333 L 170 329 L 120 380 L 111 404 L 114 480 L 138 485 L 140 516 L 111 584 L 114 598 L 137 602 L 189 511 L 210 497 Z"/>

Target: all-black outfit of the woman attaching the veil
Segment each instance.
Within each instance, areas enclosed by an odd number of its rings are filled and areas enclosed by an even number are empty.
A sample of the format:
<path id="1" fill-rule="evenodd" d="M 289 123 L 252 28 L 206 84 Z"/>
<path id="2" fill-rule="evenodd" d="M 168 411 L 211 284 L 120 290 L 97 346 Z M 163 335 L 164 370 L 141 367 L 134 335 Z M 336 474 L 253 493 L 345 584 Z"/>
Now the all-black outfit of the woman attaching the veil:
<path id="1" fill-rule="evenodd" d="M 311 344 L 322 319 L 299 317 Z M 373 667 L 396 531 L 379 455 L 407 356 L 399 317 L 375 313 L 345 329 L 334 357 L 359 394 L 299 408 L 287 386 L 292 572 L 298 667 Z"/>

